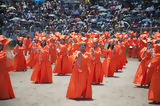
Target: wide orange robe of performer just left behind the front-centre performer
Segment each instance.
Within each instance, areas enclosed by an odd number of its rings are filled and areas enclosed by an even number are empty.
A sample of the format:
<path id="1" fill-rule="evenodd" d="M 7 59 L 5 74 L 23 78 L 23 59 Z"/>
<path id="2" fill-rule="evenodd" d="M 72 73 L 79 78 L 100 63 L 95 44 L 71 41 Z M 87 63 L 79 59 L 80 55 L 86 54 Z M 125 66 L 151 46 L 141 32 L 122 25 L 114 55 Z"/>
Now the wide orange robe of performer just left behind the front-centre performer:
<path id="1" fill-rule="evenodd" d="M 60 49 L 53 72 L 60 74 L 72 73 L 72 67 L 67 56 L 67 44 L 61 45 Z"/>

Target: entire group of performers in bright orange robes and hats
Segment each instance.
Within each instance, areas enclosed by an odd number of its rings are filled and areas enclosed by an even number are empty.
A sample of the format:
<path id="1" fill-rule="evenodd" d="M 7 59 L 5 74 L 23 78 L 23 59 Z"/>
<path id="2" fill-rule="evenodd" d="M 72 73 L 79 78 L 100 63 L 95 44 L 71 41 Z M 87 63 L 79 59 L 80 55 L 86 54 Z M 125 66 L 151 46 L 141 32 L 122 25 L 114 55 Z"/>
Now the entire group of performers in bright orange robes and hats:
<path id="1" fill-rule="evenodd" d="M 27 67 L 33 68 L 31 81 L 35 83 L 52 83 L 52 73 L 71 74 L 66 97 L 91 99 L 91 85 L 103 83 L 104 76 L 113 77 L 116 71 L 122 70 L 127 63 L 127 50 L 129 57 L 141 61 L 133 82 L 150 85 L 148 99 L 160 102 L 159 32 L 152 38 L 148 32 L 140 36 L 134 32 L 115 33 L 114 37 L 109 32 L 85 36 L 36 32 L 32 41 L 29 34 L 26 38 L 17 36 L 17 40 L 12 59 L 7 46 L 10 40 L 0 35 L 0 99 L 15 97 L 8 72 L 26 71 Z M 55 64 L 53 69 L 52 64 Z"/>

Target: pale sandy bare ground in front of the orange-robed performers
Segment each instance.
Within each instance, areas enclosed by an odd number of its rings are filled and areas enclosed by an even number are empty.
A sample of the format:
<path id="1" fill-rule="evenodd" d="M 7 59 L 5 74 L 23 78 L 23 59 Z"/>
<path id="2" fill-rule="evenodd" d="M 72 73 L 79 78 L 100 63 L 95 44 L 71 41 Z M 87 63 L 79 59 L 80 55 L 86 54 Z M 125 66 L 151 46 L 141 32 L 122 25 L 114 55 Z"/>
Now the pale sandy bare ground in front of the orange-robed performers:
<path id="1" fill-rule="evenodd" d="M 104 78 L 101 85 L 93 85 L 93 100 L 66 99 L 70 76 L 53 75 L 52 84 L 34 84 L 32 70 L 11 72 L 15 99 L 1 100 L 0 106 L 151 106 L 148 89 L 136 87 L 132 81 L 139 65 L 137 59 L 128 59 L 123 72 Z"/>

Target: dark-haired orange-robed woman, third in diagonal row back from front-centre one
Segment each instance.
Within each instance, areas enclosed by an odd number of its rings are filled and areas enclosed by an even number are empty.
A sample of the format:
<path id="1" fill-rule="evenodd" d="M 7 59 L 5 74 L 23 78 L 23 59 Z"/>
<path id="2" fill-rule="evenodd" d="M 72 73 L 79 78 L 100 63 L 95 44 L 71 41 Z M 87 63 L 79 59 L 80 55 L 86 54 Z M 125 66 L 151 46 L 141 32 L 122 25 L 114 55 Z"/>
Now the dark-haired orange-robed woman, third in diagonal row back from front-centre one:
<path id="1" fill-rule="evenodd" d="M 102 63 L 104 76 L 113 77 L 114 76 L 114 72 L 115 72 L 115 68 L 116 68 L 116 64 L 114 62 L 115 50 L 114 50 L 113 41 L 111 41 L 109 43 L 107 49 L 105 49 L 103 51 L 103 56 L 105 58 L 103 63 Z"/>

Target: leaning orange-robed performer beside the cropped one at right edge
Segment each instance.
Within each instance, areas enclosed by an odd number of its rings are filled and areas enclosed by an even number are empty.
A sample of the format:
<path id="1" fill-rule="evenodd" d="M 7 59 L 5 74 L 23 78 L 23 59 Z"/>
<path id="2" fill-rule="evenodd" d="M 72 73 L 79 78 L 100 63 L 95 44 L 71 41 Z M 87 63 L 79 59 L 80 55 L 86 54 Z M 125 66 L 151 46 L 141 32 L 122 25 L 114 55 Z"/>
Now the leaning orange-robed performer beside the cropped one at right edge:
<path id="1" fill-rule="evenodd" d="M 147 84 L 146 83 L 147 69 L 148 69 L 148 65 L 151 61 L 152 51 L 153 51 L 152 50 L 152 43 L 148 42 L 147 47 L 144 47 L 141 51 L 142 61 L 139 64 L 139 67 L 137 69 L 133 83 L 141 84 L 141 86 Z"/>

